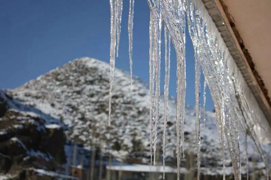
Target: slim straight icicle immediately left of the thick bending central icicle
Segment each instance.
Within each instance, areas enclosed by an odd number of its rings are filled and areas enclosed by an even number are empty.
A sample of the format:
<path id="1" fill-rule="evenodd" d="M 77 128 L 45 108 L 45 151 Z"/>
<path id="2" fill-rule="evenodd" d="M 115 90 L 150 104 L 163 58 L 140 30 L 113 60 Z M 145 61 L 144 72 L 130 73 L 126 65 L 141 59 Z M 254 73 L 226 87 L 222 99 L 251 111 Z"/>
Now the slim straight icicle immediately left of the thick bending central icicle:
<path id="1" fill-rule="evenodd" d="M 166 158 L 166 128 L 169 105 L 169 74 L 170 74 L 170 36 L 167 28 L 165 33 L 165 86 L 164 86 L 164 131 L 163 131 L 163 180 L 165 180 L 165 158 Z"/>

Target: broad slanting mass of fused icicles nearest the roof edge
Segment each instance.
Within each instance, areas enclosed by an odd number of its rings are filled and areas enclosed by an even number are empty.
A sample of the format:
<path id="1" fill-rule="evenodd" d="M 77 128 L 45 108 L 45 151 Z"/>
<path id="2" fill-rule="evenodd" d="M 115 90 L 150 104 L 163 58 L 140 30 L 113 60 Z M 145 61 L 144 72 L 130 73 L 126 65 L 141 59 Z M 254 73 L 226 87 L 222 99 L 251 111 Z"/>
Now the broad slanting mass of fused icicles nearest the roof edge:
<path id="1" fill-rule="evenodd" d="M 208 13 L 204 12 L 206 9 L 202 1 L 188 0 L 187 6 L 192 9 L 191 6 L 193 7 L 195 2 L 197 2 L 195 12 L 189 11 L 190 13 L 187 13 L 188 19 L 190 19 L 188 22 L 191 21 L 189 23 L 191 28 L 189 29 L 192 29 L 190 30 L 190 35 L 194 48 L 199 49 L 199 60 L 202 65 L 205 81 L 208 83 L 215 104 L 217 129 L 223 158 L 223 179 L 225 180 L 225 138 L 227 138 L 235 178 L 239 180 L 241 176 L 238 129 L 241 124 L 239 123 L 239 119 L 242 118 L 239 117 L 242 111 L 238 111 L 235 107 L 238 104 L 235 99 L 236 95 L 232 90 L 232 82 L 228 81 L 229 71 L 227 62 L 230 56 L 228 56 L 228 49 L 211 17 L 208 16 Z M 202 17 L 203 15 L 204 17 Z M 203 18 L 205 19 L 204 21 Z"/>

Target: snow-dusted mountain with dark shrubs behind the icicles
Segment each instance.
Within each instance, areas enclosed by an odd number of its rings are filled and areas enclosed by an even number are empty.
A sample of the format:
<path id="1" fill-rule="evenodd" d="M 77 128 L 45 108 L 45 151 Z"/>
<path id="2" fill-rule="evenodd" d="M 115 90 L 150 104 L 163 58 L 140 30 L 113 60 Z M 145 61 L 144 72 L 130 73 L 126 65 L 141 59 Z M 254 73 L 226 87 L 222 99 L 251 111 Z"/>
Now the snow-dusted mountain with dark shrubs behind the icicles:
<path id="1" fill-rule="evenodd" d="M 148 87 L 139 79 L 134 79 L 131 91 L 130 75 L 115 69 L 111 126 L 108 127 L 109 68 L 109 64 L 100 60 L 76 59 L 17 89 L 7 90 L 6 93 L 20 100 L 22 104 L 50 115 L 56 119 L 56 123 L 65 124 L 67 138 L 71 141 L 80 142 L 85 146 L 95 143 L 104 151 L 111 149 L 110 153 L 118 159 L 137 163 L 138 159 L 143 159 L 139 162 L 147 163 L 149 160 Z M 162 97 L 161 125 L 158 128 L 160 139 L 163 131 L 163 102 Z M 209 167 L 205 170 L 206 174 L 221 174 L 222 153 L 220 144 L 216 140 L 215 115 L 206 112 L 205 118 L 205 128 L 202 126 L 201 164 L 202 167 Z M 169 100 L 167 128 L 167 162 L 175 165 L 176 132 L 173 99 Z M 186 106 L 184 127 L 186 157 L 195 157 L 197 154 L 194 130 L 195 111 L 193 107 Z M 244 144 L 242 140 L 241 144 Z M 257 150 L 252 144 L 249 140 L 250 160 L 259 161 Z M 161 140 L 158 141 L 158 145 L 161 147 Z M 244 159 L 245 150 L 242 147 L 241 156 Z M 226 157 L 226 166 L 230 167 L 228 151 Z M 188 166 L 185 159 L 182 161 L 182 166 Z M 232 173 L 231 168 L 228 173 Z"/>

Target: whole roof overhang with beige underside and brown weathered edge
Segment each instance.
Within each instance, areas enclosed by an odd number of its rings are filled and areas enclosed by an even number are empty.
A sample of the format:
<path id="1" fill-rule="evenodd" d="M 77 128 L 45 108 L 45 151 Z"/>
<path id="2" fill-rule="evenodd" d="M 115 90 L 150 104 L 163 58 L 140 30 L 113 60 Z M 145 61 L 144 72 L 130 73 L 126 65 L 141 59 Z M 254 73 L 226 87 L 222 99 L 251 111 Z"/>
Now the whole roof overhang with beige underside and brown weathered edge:
<path id="1" fill-rule="evenodd" d="M 202 1 L 271 126 L 271 1 Z"/>

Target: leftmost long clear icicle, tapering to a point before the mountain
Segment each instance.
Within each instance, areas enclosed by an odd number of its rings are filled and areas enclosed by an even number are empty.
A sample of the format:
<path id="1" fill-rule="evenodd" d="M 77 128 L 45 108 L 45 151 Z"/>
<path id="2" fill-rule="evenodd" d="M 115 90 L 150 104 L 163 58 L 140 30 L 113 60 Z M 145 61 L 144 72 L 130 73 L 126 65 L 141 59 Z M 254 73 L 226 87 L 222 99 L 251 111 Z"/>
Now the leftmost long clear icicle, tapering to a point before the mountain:
<path id="1" fill-rule="evenodd" d="M 117 2 L 110 0 L 110 87 L 109 87 L 109 108 L 108 108 L 108 125 L 111 124 L 111 100 L 115 68 L 116 53 L 116 29 L 117 29 Z"/>

